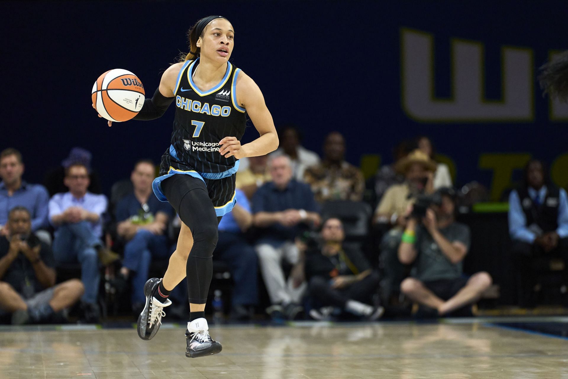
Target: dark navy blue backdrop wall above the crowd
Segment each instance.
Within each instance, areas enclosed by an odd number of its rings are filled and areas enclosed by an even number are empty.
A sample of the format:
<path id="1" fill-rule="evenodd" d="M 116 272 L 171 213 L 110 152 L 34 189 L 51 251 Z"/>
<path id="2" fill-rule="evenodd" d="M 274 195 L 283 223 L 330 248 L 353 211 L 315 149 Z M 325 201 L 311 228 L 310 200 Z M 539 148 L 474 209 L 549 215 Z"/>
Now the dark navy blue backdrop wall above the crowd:
<path id="1" fill-rule="evenodd" d="M 339 130 L 352 163 L 376 154 L 389 162 L 399 140 L 427 134 L 454 160 L 458 184 L 491 185 L 495 159 L 504 167 L 499 175 L 505 181 L 510 181 L 507 167 L 530 155 L 556 161 L 559 171 L 567 160 L 562 157 L 567 113 L 562 107 L 555 112 L 540 96 L 534 67 L 553 49 L 568 46 L 567 10 L 565 1 L 548 1 L 546 7 L 537 2 L 470 7 L 454 1 L 4 1 L 0 149 L 20 149 L 27 180 L 37 182 L 70 148 L 87 148 L 106 189 L 127 176 L 137 159 L 158 161 L 169 145 L 173 106 L 161 119 L 108 128 L 91 109 L 91 86 L 106 70 L 125 68 L 152 94 L 164 69 L 179 51 L 187 51 L 187 28 L 202 16 L 222 14 L 236 31 L 233 63 L 260 86 L 275 124 L 298 124 L 308 148 L 321 152 L 323 136 Z M 428 40 L 433 55 L 414 54 Z M 504 113 L 485 118 L 483 110 L 480 116 L 466 105 L 465 111 L 428 116 L 432 99 L 460 101 L 460 41 L 466 61 L 467 54 L 475 56 L 475 46 L 482 47 L 481 95 L 488 102 L 500 100 Z M 509 65 L 503 63 L 507 47 L 521 52 L 509 57 Z M 419 93 L 428 86 L 420 72 L 429 62 L 432 99 L 413 100 L 403 94 L 402 82 L 410 83 L 410 94 Z M 515 72 L 522 78 L 527 70 L 531 77 L 523 80 L 529 87 L 515 88 L 516 81 L 508 79 Z M 507 113 L 516 93 L 523 94 Z M 530 99 L 523 102 L 523 96 Z M 437 102 L 432 102 L 435 113 Z M 245 140 L 254 136 L 249 128 Z M 520 155 L 484 158 L 485 153 Z"/>

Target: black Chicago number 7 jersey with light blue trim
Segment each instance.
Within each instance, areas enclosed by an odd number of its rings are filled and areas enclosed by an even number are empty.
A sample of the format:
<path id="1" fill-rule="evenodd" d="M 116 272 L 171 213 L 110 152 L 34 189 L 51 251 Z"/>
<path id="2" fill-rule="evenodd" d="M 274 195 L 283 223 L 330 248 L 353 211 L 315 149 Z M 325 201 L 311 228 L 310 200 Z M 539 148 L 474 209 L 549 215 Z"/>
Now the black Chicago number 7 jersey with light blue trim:
<path id="1" fill-rule="evenodd" d="M 227 136 L 240 140 L 245 132 L 245 109 L 235 97 L 240 69 L 227 62 L 223 80 L 214 88 L 201 91 L 192 78 L 198 64 L 199 58 L 187 61 L 179 71 L 174 90 L 172 145 L 162 157 L 161 174 L 171 168 L 222 173 L 235 166 L 234 156 L 220 155 L 219 141 Z"/>

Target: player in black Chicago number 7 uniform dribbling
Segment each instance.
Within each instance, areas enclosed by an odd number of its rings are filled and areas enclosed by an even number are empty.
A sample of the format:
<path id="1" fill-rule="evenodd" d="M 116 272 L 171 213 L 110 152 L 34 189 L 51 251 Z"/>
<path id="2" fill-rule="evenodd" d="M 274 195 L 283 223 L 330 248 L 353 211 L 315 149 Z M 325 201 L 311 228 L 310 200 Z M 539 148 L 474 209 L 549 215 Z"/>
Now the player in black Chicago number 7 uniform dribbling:
<path id="1" fill-rule="evenodd" d="M 138 335 L 152 339 L 160 328 L 170 291 L 187 277 L 190 322 L 187 357 L 221 351 L 211 339 L 205 303 L 212 277 L 212 253 L 220 218 L 235 204 L 235 173 L 242 157 L 260 156 L 278 147 L 278 136 L 264 97 L 254 81 L 229 63 L 233 27 L 223 16 L 199 20 L 189 31 L 190 53 L 170 66 L 160 86 L 135 116 L 152 120 L 176 103 L 171 145 L 162 156 L 154 193 L 169 201 L 182 220 L 177 249 L 162 280 L 144 286 L 146 304 L 138 318 Z M 241 145 L 248 114 L 260 137 Z M 108 122 L 111 125 L 111 122 Z"/>

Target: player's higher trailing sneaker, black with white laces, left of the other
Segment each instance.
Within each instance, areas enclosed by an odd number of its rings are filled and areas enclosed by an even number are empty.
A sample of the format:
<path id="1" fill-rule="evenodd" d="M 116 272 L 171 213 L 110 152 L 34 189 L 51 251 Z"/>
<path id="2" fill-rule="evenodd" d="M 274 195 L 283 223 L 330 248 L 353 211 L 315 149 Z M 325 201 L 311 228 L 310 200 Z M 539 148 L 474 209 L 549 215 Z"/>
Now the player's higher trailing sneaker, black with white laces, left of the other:
<path id="1" fill-rule="evenodd" d="M 166 315 L 164 307 L 172 305 L 172 301 L 170 299 L 166 299 L 165 303 L 161 303 L 158 299 L 152 296 L 154 287 L 159 284 L 160 279 L 150 278 L 144 285 L 146 304 L 138 316 L 137 327 L 138 336 L 143 340 L 151 340 L 156 335 L 158 329 L 160 329 L 160 325 L 162 324 L 162 317 Z"/>

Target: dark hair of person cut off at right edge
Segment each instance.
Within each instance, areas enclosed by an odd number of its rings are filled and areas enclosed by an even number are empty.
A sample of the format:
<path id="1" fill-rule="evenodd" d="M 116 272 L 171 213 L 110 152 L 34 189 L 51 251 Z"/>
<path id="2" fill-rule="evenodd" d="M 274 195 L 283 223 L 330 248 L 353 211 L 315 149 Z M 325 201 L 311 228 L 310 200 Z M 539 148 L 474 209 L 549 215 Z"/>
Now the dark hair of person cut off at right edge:
<path id="1" fill-rule="evenodd" d="M 568 102 L 568 50 L 540 67 L 538 81 L 543 94 Z"/>

